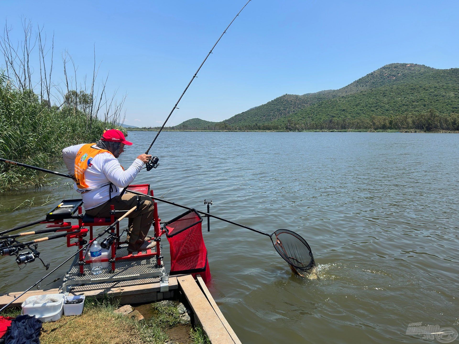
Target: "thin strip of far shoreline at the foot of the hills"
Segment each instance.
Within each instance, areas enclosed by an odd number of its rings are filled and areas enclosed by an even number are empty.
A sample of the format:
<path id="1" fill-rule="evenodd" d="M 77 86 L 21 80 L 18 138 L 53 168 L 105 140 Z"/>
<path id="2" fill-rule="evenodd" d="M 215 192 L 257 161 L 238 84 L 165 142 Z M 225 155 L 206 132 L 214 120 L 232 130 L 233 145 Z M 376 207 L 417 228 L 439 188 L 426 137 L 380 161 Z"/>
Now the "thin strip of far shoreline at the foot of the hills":
<path id="1" fill-rule="evenodd" d="M 159 129 L 143 129 L 143 128 L 125 128 L 127 131 L 154 131 Z M 162 129 L 162 131 L 170 132 L 228 132 L 228 133 L 436 133 L 436 134 L 457 134 L 459 131 L 452 130 L 436 130 L 423 131 L 418 129 L 402 129 L 402 130 L 368 130 L 368 129 L 346 129 L 346 130 L 198 130 L 198 129 Z"/>

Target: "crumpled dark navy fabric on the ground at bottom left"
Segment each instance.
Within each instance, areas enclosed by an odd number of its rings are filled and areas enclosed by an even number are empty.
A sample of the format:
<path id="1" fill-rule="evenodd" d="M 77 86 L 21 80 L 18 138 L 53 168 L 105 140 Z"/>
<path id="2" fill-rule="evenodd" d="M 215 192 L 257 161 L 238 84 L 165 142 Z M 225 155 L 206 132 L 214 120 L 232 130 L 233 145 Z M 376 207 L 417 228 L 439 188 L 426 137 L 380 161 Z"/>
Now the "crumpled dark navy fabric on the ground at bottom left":
<path id="1" fill-rule="evenodd" d="M 43 322 L 35 316 L 17 316 L 3 337 L 5 344 L 40 344 L 42 325 Z"/>

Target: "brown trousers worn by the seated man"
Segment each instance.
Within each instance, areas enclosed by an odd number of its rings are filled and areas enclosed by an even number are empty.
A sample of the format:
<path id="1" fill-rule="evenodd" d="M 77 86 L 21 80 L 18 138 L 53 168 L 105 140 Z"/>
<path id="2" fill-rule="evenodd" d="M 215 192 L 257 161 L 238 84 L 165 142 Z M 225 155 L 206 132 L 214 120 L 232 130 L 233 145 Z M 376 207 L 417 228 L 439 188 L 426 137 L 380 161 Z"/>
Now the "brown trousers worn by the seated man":
<path id="1" fill-rule="evenodd" d="M 143 244 L 151 223 L 153 222 L 153 202 L 147 196 L 140 196 L 140 210 L 131 213 L 129 218 L 129 233 L 128 233 L 128 250 L 137 251 Z M 134 194 L 123 194 L 121 199 L 119 196 L 113 197 L 104 204 L 89 209 L 86 213 L 94 217 L 110 217 L 110 205 L 115 206 L 115 210 L 129 210 L 137 205 L 137 196 Z M 119 215 L 118 215 L 119 214 Z M 123 213 L 118 213 L 120 217 Z"/>

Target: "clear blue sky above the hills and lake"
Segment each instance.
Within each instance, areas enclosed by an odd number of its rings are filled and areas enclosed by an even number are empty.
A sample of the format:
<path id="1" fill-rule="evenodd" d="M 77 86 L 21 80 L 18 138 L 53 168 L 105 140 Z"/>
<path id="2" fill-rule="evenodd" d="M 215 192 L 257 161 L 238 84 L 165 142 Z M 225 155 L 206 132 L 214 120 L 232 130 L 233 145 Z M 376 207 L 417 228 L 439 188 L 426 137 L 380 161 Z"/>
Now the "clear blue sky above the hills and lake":
<path id="1" fill-rule="evenodd" d="M 245 2 L 3 0 L 0 24 L 7 20 L 15 39 L 22 17 L 54 32 L 56 83 L 62 51 L 81 80 L 92 72 L 95 44 L 109 91 L 127 94 L 125 123 L 157 126 Z M 285 93 L 341 88 L 393 62 L 459 67 L 458 10 L 458 1 L 252 0 L 168 125 L 221 121 Z"/>

